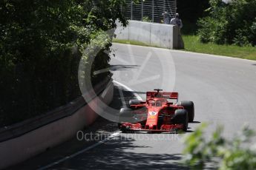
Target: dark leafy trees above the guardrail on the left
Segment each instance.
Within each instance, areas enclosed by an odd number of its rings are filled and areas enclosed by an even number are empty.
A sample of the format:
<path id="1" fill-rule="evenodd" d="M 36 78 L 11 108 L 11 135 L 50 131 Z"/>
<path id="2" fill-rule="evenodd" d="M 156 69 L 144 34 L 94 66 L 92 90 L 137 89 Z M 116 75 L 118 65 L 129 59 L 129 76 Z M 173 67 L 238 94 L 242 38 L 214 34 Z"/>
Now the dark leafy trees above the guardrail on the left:
<path id="1" fill-rule="evenodd" d="M 3 0 L 0 2 L 0 126 L 62 106 L 80 95 L 83 51 L 102 31 L 126 25 L 125 0 Z M 105 41 L 102 37 L 99 41 Z M 102 50 L 109 50 L 110 41 Z M 93 70 L 108 67 L 99 52 Z M 93 72 L 92 70 L 92 72 Z M 87 73 L 88 74 L 88 73 Z M 105 74 L 93 76 L 93 84 Z"/>

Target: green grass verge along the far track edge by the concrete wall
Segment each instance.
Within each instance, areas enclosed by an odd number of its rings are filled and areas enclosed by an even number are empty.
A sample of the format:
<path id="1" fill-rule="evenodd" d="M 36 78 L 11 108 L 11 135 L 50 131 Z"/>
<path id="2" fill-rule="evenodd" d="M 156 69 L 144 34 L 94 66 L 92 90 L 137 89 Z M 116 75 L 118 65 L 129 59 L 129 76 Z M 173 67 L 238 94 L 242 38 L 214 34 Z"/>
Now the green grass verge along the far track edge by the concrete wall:
<path id="1" fill-rule="evenodd" d="M 256 47 L 238 47 L 234 45 L 217 45 L 217 44 L 203 44 L 199 41 L 197 35 L 183 35 L 185 44 L 184 51 L 200 52 L 213 55 L 224 55 L 234 58 L 244 58 L 256 61 Z M 157 47 L 140 41 L 128 41 L 114 39 L 113 42 L 121 44 L 140 45 L 145 47 Z"/>

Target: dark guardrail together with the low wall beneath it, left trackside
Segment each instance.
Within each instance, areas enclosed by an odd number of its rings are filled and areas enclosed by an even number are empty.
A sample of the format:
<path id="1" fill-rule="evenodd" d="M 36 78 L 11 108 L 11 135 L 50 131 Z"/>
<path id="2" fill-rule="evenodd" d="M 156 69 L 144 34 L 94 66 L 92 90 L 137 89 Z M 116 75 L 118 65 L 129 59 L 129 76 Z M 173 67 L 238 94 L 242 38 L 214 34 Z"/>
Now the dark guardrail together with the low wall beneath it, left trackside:
<path id="1" fill-rule="evenodd" d="M 96 95 L 106 104 L 111 103 L 114 92 L 112 79 L 94 87 Z M 104 94 L 104 96 L 102 96 Z M 48 148 L 69 140 L 76 132 L 89 126 L 97 118 L 88 103 L 80 97 L 58 109 L 0 129 L 0 169 L 13 166 L 45 152 Z"/>

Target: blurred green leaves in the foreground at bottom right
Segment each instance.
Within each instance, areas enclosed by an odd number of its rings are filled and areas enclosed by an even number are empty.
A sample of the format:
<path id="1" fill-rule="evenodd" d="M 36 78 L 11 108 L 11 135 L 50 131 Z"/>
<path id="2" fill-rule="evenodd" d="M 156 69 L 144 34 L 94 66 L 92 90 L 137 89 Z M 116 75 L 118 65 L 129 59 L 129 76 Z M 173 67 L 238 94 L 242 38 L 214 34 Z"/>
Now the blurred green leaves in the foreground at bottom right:
<path id="1" fill-rule="evenodd" d="M 248 144 L 255 132 L 244 127 L 232 139 L 226 139 L 222 135 L 223 126 L 218 126 L 211 137 L 205 135 L 205 128 L 203 124 L 185 139 L 185 162 L 192 169 L 204 169 L 206 163 L 214 160 L 219 162 L 214 163 L 215 169 L 256 169 L 256 148 Z"/>

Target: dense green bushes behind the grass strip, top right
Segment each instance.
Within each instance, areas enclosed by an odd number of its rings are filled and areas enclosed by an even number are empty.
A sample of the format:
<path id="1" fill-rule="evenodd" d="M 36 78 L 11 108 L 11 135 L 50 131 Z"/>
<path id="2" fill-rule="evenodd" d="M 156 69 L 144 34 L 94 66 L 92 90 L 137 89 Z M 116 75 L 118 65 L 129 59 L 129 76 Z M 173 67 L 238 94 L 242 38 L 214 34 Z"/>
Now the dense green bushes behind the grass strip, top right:
<path id="1" fill-rule="evenodd" d="M 255 45 L 256 0 L 210 0 L 209 16 L 198 21 L 202 42 Z"/>

